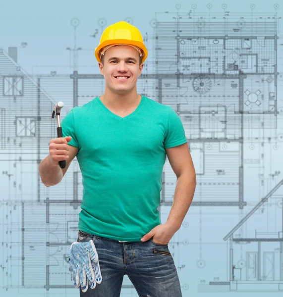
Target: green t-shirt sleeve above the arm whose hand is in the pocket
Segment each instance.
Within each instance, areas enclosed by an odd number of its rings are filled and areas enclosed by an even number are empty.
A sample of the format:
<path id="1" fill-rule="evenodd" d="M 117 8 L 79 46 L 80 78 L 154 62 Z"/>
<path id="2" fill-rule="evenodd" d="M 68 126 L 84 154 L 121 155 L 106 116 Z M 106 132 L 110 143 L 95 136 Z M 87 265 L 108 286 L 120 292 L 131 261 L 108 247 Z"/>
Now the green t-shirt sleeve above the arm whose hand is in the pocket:
<path id="1" fill-rule="evenodd" d="M 165 148 L 176 147 L 187 142 L 183 123 L 171 106 L 169 106 L 167 132 L 164 141 Z"/>

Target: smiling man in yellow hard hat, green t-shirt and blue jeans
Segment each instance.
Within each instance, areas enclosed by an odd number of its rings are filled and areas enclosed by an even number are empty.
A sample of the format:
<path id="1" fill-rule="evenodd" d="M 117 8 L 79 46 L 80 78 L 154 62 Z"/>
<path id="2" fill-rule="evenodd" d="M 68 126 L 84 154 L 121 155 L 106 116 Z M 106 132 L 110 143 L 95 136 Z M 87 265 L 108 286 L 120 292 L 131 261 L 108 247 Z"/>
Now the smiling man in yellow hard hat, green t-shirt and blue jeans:
<path id="1" fill-rule="evenodd" d="M 182 122 L 170 106 L 137 93 L 147 57 L 137 28 L 126 22 L 109 26 L 95 55 L 105 93 L 64 117 L 64 137 L 51 140 L 50 154 L 39 168 L 49 187 L 61 181 L 75 156 L 80 165 L 83 200 L 77 241 L 95 244 L 102 276 L 94 290 L 84 293 L 86 286 L 80 288 L 80 296 L 118 297 L 127 274 L 139 296 L 180 297 L 168 243 L 196 186 Z M 168 220 L 161 224 L 166 155 L 177 183 Z M 60 160 L 66 160 L 64 169 Z"/>

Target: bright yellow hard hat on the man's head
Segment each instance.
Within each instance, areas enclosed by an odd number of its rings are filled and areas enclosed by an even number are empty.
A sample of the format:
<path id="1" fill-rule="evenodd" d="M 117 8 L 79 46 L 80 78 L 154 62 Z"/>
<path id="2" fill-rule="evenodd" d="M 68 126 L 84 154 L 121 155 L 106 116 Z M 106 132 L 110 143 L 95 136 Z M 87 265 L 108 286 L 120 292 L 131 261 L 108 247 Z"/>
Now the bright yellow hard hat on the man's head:
<path id="1" fill-rule="evenodd" d="M 100 62 L 103 48 L 110 45 L 129 45 L 142 50 L 142 63 L 147 58 L 147 49 L 143 43 L 140 31 L 133 25 L 120 21 L 107 27 L 100 38 L 99 46 L 95 49 L 95 57 Z"/>

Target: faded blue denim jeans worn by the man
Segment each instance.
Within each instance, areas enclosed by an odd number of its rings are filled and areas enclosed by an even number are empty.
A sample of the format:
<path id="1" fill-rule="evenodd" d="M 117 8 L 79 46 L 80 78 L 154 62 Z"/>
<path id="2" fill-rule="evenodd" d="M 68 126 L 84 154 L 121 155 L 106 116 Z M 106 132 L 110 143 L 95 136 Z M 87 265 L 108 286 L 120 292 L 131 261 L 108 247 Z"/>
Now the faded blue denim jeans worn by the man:
<path id="1" fill-rule="evenodd" d="M 78 242 L 93 240 L 102 282 L 80 297 L 119 297 L 126 274 L 139 297 L 182 297 L 174 260 L 168 245 L 147 242 L 120 243 L 79 231 Z"/>

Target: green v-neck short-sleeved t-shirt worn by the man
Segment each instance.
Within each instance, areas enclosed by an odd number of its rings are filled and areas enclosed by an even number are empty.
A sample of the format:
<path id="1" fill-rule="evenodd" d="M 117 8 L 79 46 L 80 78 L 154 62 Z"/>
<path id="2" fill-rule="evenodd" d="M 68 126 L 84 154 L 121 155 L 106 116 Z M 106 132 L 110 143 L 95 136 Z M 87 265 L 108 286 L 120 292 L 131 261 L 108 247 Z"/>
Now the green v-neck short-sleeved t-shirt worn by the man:
<path id="1" fill-rule="evenodd" d="M 171 106 L 145 96 L 120 117 L 99 99 L 75 106 L 61 122 L 78 148 L 83 199 L 78 228 L 119 241 L 140 241 L 161 224 L 165 148 L 187 142 Z"/>

